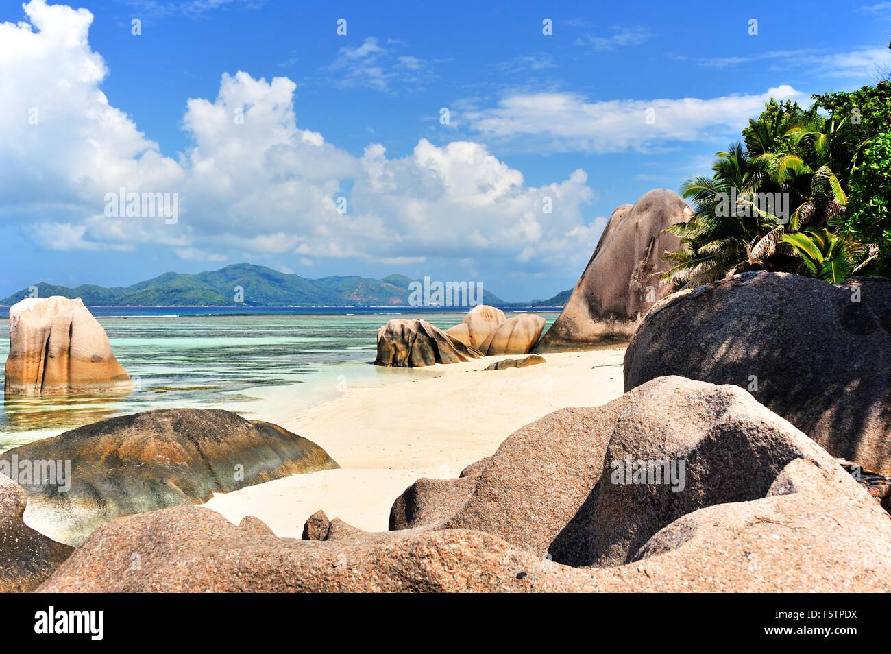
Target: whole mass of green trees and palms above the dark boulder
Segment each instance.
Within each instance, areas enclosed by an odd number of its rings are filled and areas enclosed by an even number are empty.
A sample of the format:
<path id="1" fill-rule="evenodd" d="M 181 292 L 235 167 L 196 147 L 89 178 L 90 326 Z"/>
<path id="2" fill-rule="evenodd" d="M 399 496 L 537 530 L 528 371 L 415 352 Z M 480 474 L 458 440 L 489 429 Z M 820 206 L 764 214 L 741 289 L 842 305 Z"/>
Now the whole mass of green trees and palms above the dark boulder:
<path id="1" fill-rule="evenodd" d="M 663 283 L 691 288 L 748 270 L 844 281 L 891 270 L 891 83 L 767 102 L 711 176 L 682 184 L 690 220 L 673 225 Z"/>

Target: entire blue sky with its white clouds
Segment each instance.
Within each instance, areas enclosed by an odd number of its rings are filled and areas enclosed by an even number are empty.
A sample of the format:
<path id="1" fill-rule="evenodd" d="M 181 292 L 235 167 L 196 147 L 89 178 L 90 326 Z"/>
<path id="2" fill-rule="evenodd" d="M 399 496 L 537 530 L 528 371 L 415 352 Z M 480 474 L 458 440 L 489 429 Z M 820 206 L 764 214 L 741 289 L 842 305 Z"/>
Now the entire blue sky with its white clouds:
<path id="1" fill-rule="evenodd" d="M 891 3 L 551 5 L 3 2 L 0 297 L 241 261 L 549 297 L 768 97 L 891 66 Z"/>

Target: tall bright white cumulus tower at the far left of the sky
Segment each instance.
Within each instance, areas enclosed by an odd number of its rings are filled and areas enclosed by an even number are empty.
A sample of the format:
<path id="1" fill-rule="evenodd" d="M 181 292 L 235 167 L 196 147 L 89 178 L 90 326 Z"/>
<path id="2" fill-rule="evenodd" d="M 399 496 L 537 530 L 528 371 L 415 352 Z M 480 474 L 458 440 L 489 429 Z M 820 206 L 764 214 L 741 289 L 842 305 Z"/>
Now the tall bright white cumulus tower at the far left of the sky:
<path id="1" fill-rule="evenodd" d="M 99 88 L 108 69 L 87 43 L 92 14 L 42 0 L 25 11 L 29 22 L 0 24 L 6 210 L 101 211 L 109 189 L 175 184 L 182 175 L 176 161 L 162 156 Z"/>

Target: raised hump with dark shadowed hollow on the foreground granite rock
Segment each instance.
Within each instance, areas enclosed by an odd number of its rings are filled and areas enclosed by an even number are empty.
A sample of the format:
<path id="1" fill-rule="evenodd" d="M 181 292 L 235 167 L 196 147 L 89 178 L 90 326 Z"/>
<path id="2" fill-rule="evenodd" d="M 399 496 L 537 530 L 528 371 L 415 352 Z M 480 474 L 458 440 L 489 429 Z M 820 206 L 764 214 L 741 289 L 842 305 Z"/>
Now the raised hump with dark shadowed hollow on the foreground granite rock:
<path id="1" fill-rule="evenodd" d="M 625 396 L 596 509 L 576 516 L 597 527 L 590 538 L 574 539 L 575 556 L 567 552 L 560 560 L 598 567 L 631 562 L 650 537 L 693 511 L 775 495 L 772 488 L 793 461 L 818 470 L 827 492 L 838 485 L 861 495 L 856 485 L 838 481 L 851 479 L 832 457 L 740 388 L 680 377 L 646 388 Z"/>

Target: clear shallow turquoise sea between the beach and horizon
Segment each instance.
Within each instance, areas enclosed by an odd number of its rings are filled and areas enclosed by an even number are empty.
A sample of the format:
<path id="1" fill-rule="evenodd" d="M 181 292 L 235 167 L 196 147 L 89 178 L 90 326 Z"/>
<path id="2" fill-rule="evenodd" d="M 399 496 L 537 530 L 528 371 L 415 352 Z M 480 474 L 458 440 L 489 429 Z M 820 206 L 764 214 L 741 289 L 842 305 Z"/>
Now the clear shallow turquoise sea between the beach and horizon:
<path id="1" fill-rule="evenodd" d="M 454 309 L 410 313 L 354 307 L 301 308 L 299 315 L 293 307 L 91 310 L 115 356 L 134 377 L 135 392 L 127 397 L 7 397 L 0 408 L 0 451 L 113 415 L 156 408 L 223 408 L 251 419 L 281 420 L 348 388 L 435 374 L 373 365 L 378 328 L 393 317 L 421 317 L 447 329 L 464 316 Z M 559 309 L 535 313 L 550 326 Z M 8 351 L 9 323 L 3 316 L 0 362 L 5 363 Z"/>

